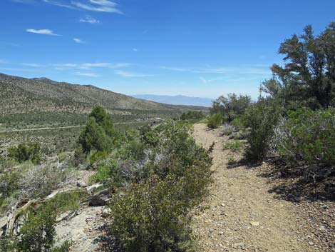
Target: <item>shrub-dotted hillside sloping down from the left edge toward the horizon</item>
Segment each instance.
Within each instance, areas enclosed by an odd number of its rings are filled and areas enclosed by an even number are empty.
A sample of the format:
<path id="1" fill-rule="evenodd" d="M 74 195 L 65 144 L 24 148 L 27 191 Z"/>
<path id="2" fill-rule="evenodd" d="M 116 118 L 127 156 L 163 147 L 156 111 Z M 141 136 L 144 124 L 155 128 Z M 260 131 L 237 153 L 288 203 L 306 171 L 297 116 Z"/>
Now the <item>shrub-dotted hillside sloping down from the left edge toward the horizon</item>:
<path id="1" fill-rule="evenodd" d="M 176 111 L 188 108 L 135 99 L 91 85 L 56 82 L 46 78 L 25 79 L 0 74 L 1 114 L 31 111 L 66 111 L 87 113 L 93 106 L 106 109 L 135 109 L 146 111 Z"/>

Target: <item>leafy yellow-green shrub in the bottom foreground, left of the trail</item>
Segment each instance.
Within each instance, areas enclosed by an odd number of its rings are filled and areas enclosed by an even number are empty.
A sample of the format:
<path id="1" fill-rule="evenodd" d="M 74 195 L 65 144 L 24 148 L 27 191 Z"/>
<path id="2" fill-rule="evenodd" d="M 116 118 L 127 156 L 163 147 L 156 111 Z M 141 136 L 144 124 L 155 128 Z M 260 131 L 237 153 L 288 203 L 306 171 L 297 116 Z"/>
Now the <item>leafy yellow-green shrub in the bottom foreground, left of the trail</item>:
<path id="1" fill-rule="evenodd" d="M 199 203 L 204 189 L 187 179 L 153 177 L 115 194 L 110 228 L 128 251 L 190 251 L 187 212 Z"/>

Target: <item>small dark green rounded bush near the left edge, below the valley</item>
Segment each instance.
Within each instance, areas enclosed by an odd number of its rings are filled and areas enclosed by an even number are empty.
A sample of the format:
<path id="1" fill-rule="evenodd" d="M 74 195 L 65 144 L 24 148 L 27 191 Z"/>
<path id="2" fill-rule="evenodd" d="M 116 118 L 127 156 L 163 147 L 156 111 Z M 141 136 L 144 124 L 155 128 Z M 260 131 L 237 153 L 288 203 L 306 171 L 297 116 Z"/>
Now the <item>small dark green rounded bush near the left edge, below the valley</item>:
<path id="1" fill-rule="evenodd" d="M 41 163 L 41 144 L 30 143 L 27 146 L 26 143 L 20 143 L 18 146 L 9 148 L 9 157 L 20 163 L 27 160 L 31 160 L 35 164 Z"/>

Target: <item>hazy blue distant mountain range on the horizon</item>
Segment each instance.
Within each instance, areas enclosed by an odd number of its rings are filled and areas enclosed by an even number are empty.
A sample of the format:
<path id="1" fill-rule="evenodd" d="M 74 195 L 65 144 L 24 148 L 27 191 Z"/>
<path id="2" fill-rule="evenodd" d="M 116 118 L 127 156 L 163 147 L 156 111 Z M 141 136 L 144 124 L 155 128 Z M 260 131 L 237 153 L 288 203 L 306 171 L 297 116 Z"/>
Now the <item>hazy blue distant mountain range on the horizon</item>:
<path id="1" fill-rule="evenodd" d="M 190 96 L 159 96 L 154 94 L 136 94 L 133 97 L 147 101 L 155 101 L 161 104 L 186 105 L 186 106 L 205 106 L 212 105 L 212 99 L 190 97 Z"/>

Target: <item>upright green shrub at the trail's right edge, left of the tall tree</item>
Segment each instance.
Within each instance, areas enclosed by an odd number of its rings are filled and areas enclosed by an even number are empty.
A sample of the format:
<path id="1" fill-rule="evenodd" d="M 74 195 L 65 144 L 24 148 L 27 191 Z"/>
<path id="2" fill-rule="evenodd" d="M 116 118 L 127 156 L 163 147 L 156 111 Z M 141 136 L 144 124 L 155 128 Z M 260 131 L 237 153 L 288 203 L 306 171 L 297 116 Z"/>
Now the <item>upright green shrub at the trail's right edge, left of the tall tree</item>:
<path id="1" fill-rule="evenodd" d="M 261 160 L 266 156 L 268 144 L 280 118 L 280 109 L 272 101 L 260 100 L 244 114 L 244 126 L 250 128 L 247 135 L 249 159 Z"/>

